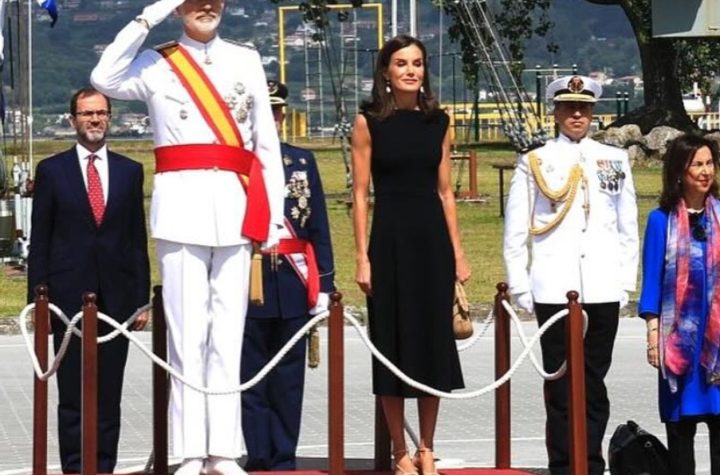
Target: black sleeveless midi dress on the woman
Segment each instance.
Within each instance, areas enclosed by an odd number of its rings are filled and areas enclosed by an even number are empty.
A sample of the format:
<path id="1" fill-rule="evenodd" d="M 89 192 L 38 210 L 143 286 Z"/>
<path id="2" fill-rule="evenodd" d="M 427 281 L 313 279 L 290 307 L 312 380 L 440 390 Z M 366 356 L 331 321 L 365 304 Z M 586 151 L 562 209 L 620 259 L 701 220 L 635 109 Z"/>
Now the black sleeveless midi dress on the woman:
<path id="1" fill-rule="evenodd" d="M 378 349 L 411 378 L 443 391 L 464 387 L 452 330 L 455 257 L 437 192 L 449 118 L 397 110 L 365 114 L 375 191 L 368 328 Z M 373 358 L 373 392 L 421 397 Z"/>

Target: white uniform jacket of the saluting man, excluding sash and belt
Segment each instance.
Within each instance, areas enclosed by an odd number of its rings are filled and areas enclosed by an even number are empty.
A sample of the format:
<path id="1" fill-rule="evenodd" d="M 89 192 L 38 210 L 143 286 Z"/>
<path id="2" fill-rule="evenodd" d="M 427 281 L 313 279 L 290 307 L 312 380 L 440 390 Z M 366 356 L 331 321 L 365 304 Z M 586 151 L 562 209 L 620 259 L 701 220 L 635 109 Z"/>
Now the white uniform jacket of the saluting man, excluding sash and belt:
<path id="1" fill-rule="evenodd" d="M 91 75 L 104 94 L 148 105 L 155 146 L 217 143 L 190 95 L 157 51 L 137 55 L 148 30 L 130 22 L 103 52 Z M 183 35 L 189 51 L 228 104 L 245 143 L 263 165 L 271 228 L 283 222 L 284 175 L 280 142 L 260 56 L 250 47 L 215 37 L 207 44 Z M 208 64 L 209 63 L 209 64 Z M 232 246 L 241 236 L 246 195 L 234 172 L 182 170 L 155 175 L 152 236 L 184 244 Z M 273 229 L 274 230 L 274 229 Z"/>

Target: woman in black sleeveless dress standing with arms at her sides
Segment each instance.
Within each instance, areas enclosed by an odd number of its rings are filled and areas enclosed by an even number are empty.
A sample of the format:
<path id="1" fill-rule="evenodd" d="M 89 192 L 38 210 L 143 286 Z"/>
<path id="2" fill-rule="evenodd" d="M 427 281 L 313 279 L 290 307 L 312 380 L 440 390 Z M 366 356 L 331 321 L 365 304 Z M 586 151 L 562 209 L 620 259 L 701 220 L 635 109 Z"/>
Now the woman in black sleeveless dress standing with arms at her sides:
<path id="1" fill-rule="evenodd" d="M 435 389 L 462 388 L 452 331 L 454 282 L 470 268 L 460 246 L 450 185 L 449 118 L 430 91 L 427 54 L 401 35 L 380 50 L 372 100 L 352 137 L 356 281 L 367 295 L 373 343 L 411 378 Z M 370 180 L 375 194 L 368 244 Z M 433 437 L 439 399 L 418 391 L 373 359 L 393 442 L 396 475 L 436 473 Z M 417 398 L 420 446 L 410 458 L 405 398 Z"/>

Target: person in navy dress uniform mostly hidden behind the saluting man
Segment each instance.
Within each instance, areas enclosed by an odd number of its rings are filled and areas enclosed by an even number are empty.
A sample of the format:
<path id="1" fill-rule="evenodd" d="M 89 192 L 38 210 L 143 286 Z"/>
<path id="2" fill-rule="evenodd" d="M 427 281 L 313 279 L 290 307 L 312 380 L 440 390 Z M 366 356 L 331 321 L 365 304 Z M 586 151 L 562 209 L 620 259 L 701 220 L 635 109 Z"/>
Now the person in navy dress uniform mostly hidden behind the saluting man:
<path id="1" fill-rule="evenodd" d="M 275 123 L 282 125 L 288 90 L 268 81 Z M 281 144 L 285 170 L 285 226 L 279 244 L 263 256 L 263 305 L 250 305 L 245 322 L 241 379 L 255 376 L 280 348 L 328 307 L 334 290 L 325 195 L 309 150 Z M 256 386 L 242 393 L 245 470 L 295 470 L 300 434 L 305 339 Z"/>

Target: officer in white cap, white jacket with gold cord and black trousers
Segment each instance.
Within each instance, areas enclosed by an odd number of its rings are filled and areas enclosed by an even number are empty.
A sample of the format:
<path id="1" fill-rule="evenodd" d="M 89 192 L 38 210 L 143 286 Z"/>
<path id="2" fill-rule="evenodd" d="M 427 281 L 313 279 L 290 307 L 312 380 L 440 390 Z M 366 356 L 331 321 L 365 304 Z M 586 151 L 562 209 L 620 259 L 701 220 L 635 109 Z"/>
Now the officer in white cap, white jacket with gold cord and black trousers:
<path id="1" fill-rule="evenodd" d="M 550 83 L 560 135 L 523 154 L 510 186 L 503 255 L 516 303 L 542 325 L 576 290 L 589 316 L 585 337 L 588 466 L 602 474 L 610 403 L 604 378 L 620 307 L 635 290 L 638 226 L 625 151 L 587 137 L 600 84 L 584 76 Z M 543 364 L 565 360 L 564 320 L 541 339 Z M 545 382 L 546 447 L 553 475 L 568 474 L 567 380 Z"/>

